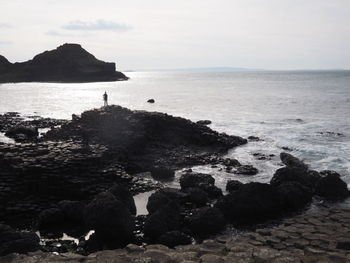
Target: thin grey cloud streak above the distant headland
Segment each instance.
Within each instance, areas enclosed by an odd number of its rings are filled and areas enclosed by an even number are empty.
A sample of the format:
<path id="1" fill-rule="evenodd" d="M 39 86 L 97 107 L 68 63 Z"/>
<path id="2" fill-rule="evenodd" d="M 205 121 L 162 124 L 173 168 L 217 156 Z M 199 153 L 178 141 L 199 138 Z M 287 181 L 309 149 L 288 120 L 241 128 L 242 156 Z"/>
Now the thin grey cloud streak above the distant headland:
<path id="1" fill-rule="evenodd" d="M 96 20 L 94 22 L 86 22 L 81 20 L 75 20 L 69 22 L 67 25 L 62 26 L 66 30 L 79 30 L 79 31 L 128 31 L 130 26 L 125 24 L 118 24 L 113 21 L 107 21 L 103 19 Z"/>

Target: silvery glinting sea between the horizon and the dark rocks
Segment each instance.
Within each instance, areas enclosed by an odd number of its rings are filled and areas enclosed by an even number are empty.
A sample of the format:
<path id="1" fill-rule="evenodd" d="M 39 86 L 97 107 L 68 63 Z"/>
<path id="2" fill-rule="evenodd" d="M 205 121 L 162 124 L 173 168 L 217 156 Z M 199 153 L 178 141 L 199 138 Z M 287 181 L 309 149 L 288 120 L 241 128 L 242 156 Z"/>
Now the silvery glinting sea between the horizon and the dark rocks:
<path id="1" fill-rule="evenodd" d="M 289 152 L 315 170 L 335 170 L 350 184 L 350 71 L 127 72 L 128 81 L 100 83 L 0 84 L 0 113 L 19 112 L 71 119 L 109 104 L 158 111 L 230 135 L 259 137 L 231 149 L 227 157 L 259 170 L 235 175 L 197 166 L 225 188 L 229 179 L 268 182 Z M 155 103 L 147 103 L 154 99 Z M 3 134 L 0 140 L 9 142 Z M 177 178 L 180 171 L 177 172 Z M 178 181 L 169 183 L 178 186 Z"/>

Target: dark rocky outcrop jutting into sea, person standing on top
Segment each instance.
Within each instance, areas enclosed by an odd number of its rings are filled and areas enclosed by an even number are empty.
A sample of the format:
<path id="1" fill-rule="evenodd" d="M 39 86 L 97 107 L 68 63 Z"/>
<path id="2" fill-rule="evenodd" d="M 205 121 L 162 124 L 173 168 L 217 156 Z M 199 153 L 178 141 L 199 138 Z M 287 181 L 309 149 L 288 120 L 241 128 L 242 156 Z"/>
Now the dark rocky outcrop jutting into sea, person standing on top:
<path id="1" fill-rule="evenodd" d="M 213 156 L 247 142 L 183 118 L 119 106 L 86 111 L 80 119 L 49 131 L 44 139 L 79 140 L 82 130 L 89 141 L 107 145 L 111 154 L 125 162 L 130 173 L 152 171 L 154 167 L 176 170 L 209 163 Z"/>

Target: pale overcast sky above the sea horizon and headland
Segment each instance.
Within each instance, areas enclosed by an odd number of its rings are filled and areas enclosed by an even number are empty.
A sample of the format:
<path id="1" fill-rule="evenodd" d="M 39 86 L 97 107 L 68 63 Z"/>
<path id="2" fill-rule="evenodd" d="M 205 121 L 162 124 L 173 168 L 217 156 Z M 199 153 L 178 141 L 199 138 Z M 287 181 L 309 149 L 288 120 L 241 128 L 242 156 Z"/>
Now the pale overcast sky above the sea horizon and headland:
<path id="1" fill-rule="evenodd" d="M 350 69 L 350 0 L 0 0 L 11 62 L 64 43 L 119 70 Z"/>

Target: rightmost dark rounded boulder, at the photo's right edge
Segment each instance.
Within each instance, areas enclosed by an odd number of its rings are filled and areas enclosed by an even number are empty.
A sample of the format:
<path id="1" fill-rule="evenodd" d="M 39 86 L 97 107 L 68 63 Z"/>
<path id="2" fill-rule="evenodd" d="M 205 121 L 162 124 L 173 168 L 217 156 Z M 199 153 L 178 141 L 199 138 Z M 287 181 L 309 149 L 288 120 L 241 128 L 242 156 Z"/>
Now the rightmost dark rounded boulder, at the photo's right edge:
<path id="1" fill-rule="evenodd" d="M 323 176 L 316 185 L 315 194 L 329 201 L 343 200 L 350 195 L 347 184 L 333 171 L 322 171 Z"/>

